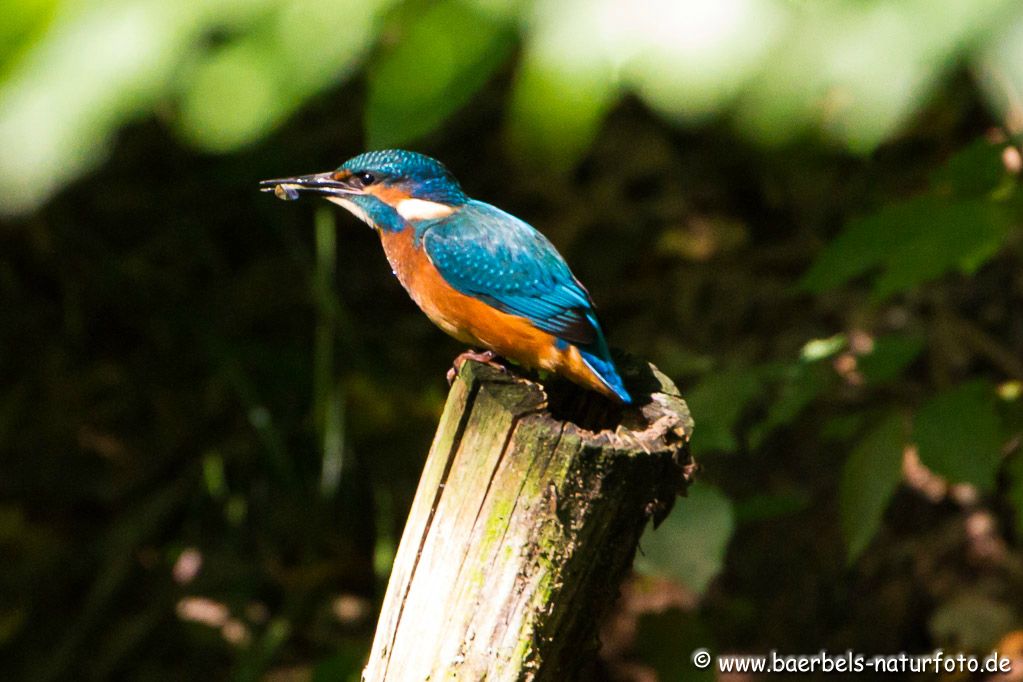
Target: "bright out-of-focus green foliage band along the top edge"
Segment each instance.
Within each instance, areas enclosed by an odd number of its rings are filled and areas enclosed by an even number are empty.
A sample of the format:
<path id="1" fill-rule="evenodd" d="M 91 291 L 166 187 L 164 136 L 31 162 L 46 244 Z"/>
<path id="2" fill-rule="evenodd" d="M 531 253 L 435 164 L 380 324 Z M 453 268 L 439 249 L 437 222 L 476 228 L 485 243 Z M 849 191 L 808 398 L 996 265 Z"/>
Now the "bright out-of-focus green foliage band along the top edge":
<path id="1" fill-rule="evenodd" d="M 505 140 L 514 156 L 553 171 L 580 161 L 623 93 L 671 122 L 730 113 L 761 143 L 814 131 L 869 153 L 926 105 L 949 64 L 979 64 L 993 110 L 1010 110 L 1005 84 L 1023 83 L 1013 0 L 641 2 L 620 12 L 581 0 L 10 0 L 0 209 L 40 206 L 140 117 L 170 119 L 197 148 L 229 152 L 360 70 L 368 146 L 417 142 L 509 62 L 516 28 L 524 49 Z M 335 115 L 339 125 L 358 119 Z M 992 174 L 988 165 L 962 187 L 979 190 Z"/>

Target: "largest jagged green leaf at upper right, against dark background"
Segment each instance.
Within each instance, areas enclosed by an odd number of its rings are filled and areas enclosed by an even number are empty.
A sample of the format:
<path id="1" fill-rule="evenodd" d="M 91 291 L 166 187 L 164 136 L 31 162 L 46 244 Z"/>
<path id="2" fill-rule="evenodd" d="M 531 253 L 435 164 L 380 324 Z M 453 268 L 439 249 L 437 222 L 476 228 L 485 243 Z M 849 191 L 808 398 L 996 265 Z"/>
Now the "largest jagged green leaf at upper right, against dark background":
<path id="1" fill-rule="evenodd" d="M 918 196 L 849 223 L 800 287 L 819 293 L 880 271 L 874 295 L 881 301 L 950 270 L 975 271 L 997 252 L 1010 227 L 1003 208 L 990 201 Z"/>

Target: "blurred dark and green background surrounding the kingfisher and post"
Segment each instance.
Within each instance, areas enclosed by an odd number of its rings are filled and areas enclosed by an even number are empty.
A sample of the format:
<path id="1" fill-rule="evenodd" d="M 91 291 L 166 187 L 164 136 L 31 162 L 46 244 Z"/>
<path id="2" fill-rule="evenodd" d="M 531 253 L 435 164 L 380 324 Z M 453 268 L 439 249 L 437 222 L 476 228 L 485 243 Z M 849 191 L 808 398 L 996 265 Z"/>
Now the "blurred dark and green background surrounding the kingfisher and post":
<path id="1" fill-rule="evenodd" d="M 3 679 L 357 679 L 461 348 L 256 183 L 387 146 L 545 232 L 690 401 L 605 679 L 1023 651 L 1018 0 L 0 15 Z"/>

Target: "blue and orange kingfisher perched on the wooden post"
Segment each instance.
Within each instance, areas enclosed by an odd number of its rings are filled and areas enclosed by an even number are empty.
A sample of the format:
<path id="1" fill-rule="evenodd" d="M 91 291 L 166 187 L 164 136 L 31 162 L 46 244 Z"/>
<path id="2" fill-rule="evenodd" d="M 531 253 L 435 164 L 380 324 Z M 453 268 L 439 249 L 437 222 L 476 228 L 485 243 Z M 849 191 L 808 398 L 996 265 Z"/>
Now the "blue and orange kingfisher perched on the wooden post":
<path id="1" fill-rule="evenodd" d="M 391 269 L 434 324 L 471 347 L 455 361 L 554 372 L 611 400 L 632 397 L 589 292 L 531 225 L 469 197 L 448 169 L 414 151 L 367 151 L 335 171 L 264 180 L 294 200 L 319 194 L 375 230 Z"/>

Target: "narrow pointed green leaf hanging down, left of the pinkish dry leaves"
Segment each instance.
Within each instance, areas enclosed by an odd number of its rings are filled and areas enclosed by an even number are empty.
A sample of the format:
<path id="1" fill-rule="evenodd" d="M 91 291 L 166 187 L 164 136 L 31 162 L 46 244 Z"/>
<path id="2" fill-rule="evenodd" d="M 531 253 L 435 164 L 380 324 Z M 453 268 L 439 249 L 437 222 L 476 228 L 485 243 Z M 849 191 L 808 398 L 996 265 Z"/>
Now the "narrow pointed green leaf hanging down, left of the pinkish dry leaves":
<path id="1" fill-rule="evenodd" d="M 888 502 L 902 479 L 902 418 L 889 414 L 846 459 L 839 483 L 839 511 L 852 562 L 881 527 Z"/>

